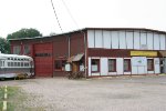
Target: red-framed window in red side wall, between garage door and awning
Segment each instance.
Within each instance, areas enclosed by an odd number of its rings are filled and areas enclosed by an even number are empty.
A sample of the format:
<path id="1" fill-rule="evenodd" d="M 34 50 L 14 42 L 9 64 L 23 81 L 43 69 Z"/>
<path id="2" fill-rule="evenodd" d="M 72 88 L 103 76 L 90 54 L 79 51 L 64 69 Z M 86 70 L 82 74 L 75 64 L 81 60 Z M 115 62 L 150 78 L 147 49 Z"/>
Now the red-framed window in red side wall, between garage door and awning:
<path id="1" fill-rule="evenodd" d="M 64 70 L 65 62 L 66 62 L 66 60 L 55 60 L 54 61 L 54 69 L 61 70 L 61 71 Z"/>

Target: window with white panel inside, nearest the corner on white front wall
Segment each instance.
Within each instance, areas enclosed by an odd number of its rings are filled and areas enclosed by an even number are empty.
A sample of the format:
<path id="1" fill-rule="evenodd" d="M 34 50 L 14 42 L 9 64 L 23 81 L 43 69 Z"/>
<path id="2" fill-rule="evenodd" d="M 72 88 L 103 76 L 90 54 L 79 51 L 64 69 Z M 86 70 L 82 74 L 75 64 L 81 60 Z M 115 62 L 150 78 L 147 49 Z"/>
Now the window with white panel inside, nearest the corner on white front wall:
<path id="1" fill-rule="evenodd" d="M 100 59 L 92 59 L 92 72 L 100 72 Z"/>

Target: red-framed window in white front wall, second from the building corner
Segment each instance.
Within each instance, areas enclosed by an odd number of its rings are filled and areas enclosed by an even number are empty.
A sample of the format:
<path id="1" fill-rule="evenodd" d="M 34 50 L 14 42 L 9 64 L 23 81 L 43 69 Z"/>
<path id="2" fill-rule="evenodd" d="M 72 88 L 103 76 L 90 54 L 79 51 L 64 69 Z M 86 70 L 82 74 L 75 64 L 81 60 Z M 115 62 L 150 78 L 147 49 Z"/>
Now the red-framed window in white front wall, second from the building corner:
<path id="1" fill-rule="evenodd" d="M 108 59 L 108 72 L 116 72 L 116 59 Z"/>

